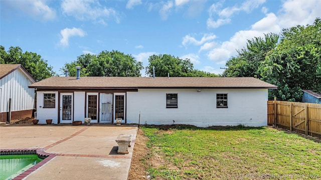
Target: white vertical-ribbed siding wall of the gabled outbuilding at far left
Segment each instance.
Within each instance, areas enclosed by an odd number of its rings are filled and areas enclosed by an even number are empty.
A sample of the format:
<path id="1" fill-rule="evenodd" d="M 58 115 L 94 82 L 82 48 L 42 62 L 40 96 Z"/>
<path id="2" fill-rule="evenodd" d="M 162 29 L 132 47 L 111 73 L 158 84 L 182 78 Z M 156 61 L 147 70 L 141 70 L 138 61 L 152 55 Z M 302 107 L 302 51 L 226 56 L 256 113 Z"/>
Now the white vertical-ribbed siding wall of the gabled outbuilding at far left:
<path id="1" fill-rule="evenodd" d="M 9 111 L 9 98 L 12 98 L 12 111 L 35 108 L 35 89 L 28 88 L 33 83 L 21 68 L 0 79 L 0 112 Z"/>

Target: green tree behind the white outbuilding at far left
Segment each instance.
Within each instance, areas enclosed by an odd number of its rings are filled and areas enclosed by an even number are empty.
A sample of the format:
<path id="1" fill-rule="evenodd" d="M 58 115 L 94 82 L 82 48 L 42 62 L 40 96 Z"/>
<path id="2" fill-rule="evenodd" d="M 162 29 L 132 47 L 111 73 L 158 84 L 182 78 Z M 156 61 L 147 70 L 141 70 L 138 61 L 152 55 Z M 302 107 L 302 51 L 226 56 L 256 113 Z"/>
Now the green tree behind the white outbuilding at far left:
<path id="1" fill-rule="evenodd" d="M 0 45 L 0 63 L 22 64 L 36 81 L 56 75 L 47 60 L 34 52 L 24 52 L 19 46 L 11 46 L 8 51 Z"/>

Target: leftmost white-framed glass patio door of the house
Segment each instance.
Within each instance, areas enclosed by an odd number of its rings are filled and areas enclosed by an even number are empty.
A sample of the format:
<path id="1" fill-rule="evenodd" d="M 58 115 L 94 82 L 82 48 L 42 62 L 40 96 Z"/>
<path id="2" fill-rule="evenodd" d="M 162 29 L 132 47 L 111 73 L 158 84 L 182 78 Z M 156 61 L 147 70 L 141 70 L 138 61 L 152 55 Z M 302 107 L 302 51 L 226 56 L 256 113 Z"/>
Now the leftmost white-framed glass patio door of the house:
<path id="1" fill-rule="evenodd" d="M 73 93 L 60 93 L 60 123 L 73 120 Z"/>

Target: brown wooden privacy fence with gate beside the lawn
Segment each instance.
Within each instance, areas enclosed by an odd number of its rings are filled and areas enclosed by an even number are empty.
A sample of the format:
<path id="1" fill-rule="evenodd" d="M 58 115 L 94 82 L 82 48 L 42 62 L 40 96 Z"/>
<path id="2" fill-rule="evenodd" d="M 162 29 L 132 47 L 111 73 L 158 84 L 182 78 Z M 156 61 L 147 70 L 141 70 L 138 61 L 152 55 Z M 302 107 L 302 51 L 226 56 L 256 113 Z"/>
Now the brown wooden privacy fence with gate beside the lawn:
<path id="1" fill-rule="evenodd" d="M 268 100 L 267 124 L 321 137 L 321 104 Z"/>

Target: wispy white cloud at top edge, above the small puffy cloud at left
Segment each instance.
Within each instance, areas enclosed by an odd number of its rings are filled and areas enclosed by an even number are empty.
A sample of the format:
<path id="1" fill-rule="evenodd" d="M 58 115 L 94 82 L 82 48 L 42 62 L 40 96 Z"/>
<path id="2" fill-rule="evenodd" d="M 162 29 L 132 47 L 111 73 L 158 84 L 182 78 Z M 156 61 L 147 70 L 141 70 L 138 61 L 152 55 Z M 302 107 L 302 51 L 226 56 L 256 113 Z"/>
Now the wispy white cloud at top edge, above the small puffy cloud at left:
<path id="1" fill-rule="evenodd" d="M 117 12 L 113 8 L 102 7 L 99 1 L 63 0 L 61 7 L 64 14 L 74 16 L 78 20 L 94 20 L 106 25 L 105 19 L 114 17 L 117 23 L 120 22 Z"/>

